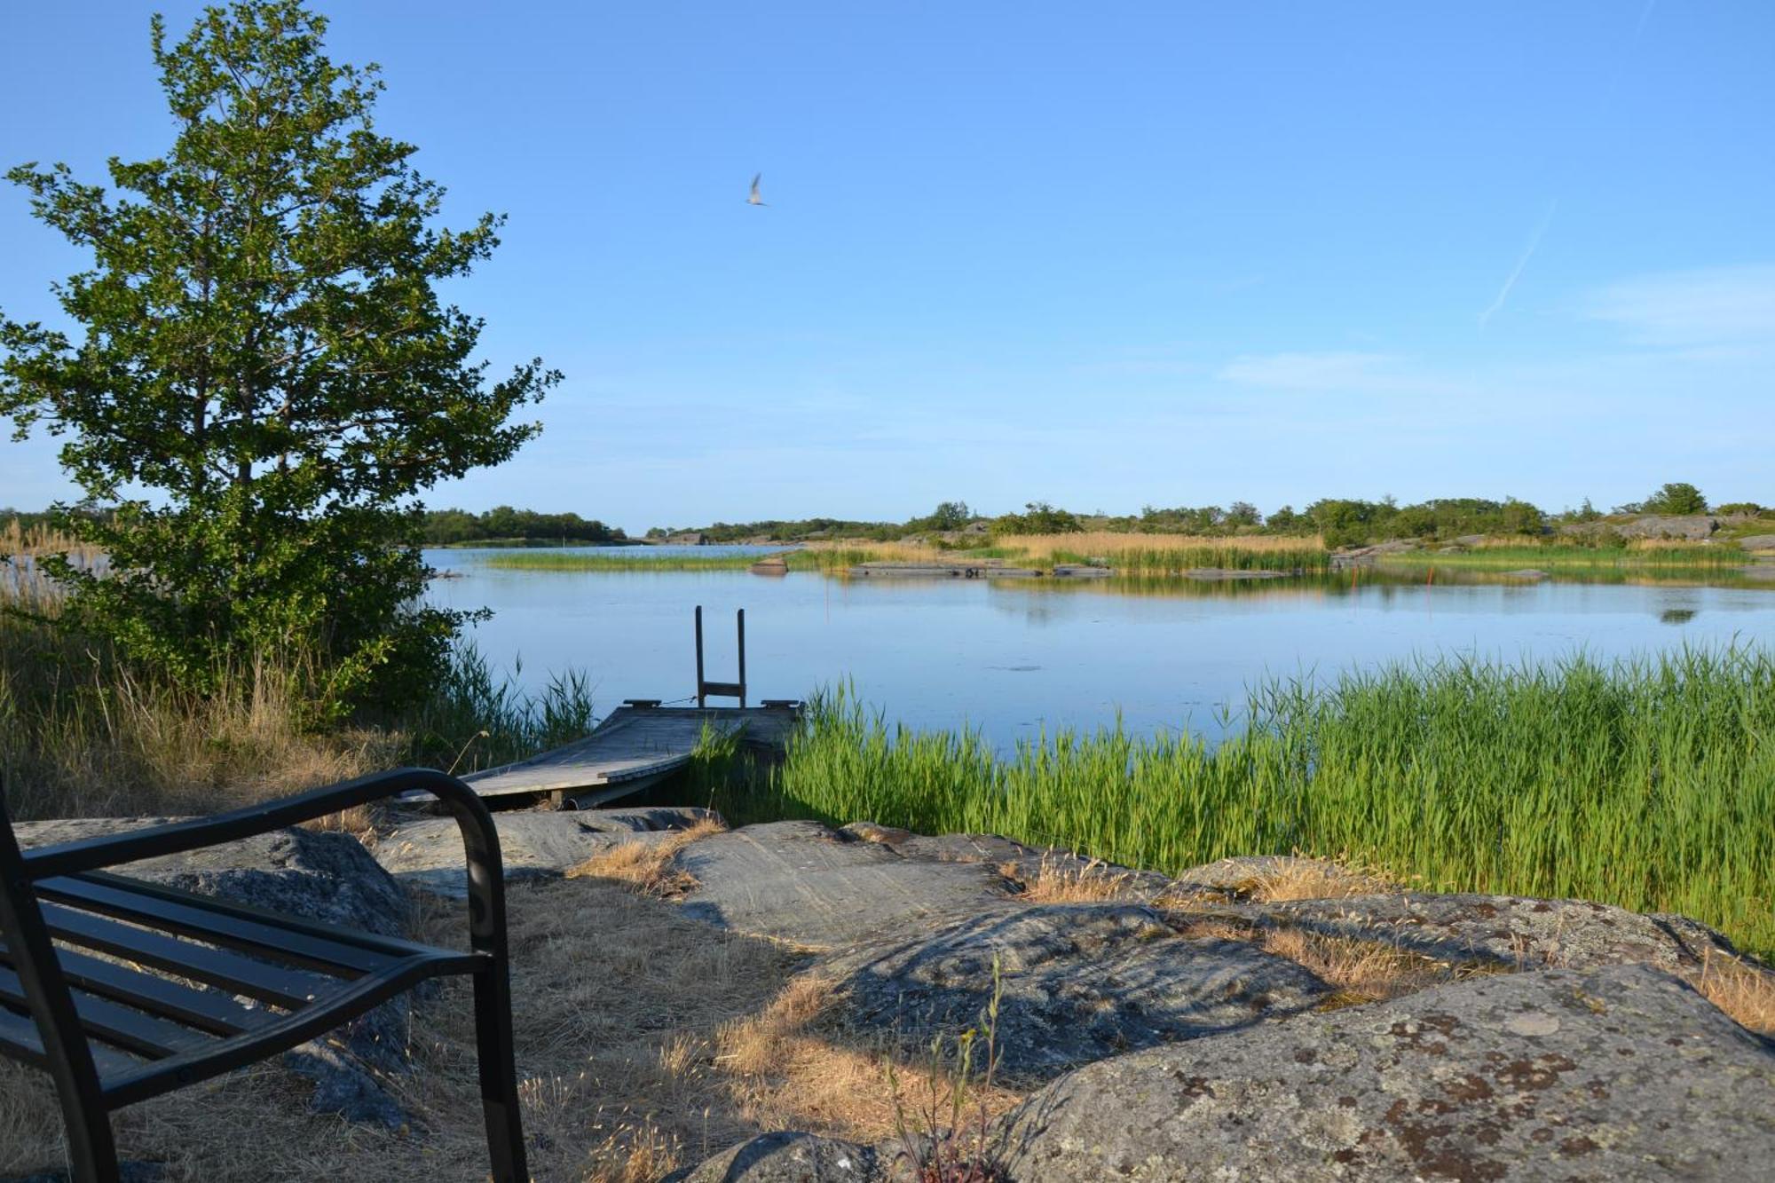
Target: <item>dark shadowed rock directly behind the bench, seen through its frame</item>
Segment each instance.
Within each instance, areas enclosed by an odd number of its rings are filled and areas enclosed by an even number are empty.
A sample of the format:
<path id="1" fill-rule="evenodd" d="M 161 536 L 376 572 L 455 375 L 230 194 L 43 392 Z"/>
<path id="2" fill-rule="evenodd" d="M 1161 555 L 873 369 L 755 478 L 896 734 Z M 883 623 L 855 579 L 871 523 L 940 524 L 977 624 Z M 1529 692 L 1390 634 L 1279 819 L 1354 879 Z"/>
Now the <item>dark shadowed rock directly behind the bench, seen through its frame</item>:
<path id="1" fill-rule="evenodd" d="M 105 833 L 142 830 L 169 819 L 78 819 L 20 822 L 21 846 L 48 846 Z M 453 824 L 454 828 L 454 824 Z M 458 842 L 458 858 L 462 844 Z M 364 846 L 346 833 L 275 830 L 186 854 L 147 858 L 115 869 L 119 874 L 165 883 L 199 895 L 217 895 L 323 924 L 401 936 L 408 902 Z M 410 995 L 396 995 L 375 1011 L 350 1021 L 339 1037 L 351 1052 L 341 1055 L 325 1041 L 305 1043 L 284 1053 L 284 1064 L 314 1080 L 312 1105 L 348 1121 L 401 1126 L 406 1117 L 357 1060 L 380 1069 L 405 1069 Z"/>

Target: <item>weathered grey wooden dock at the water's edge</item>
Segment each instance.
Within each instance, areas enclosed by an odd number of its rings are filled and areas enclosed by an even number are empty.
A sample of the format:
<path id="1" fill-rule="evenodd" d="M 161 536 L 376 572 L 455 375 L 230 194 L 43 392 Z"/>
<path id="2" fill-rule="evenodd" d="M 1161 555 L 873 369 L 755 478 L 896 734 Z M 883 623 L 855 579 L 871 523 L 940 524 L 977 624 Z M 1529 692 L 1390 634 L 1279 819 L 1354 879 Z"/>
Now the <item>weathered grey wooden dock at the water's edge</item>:
<path id="1" fill-rule="evenodd" d="M 690 764 L 705 725 L 728 734 L 738 730 L 744 744 L 781 751 L 797 719 L 801 703 L 788 700 L 763 707 L 701 709 L 630 700 L 580 741 L 469 773 L 463 780 L 483 798 L 509 798 L 501 805 L 548 796 L 566 808 L 591 808 L 682 771 Z"/>

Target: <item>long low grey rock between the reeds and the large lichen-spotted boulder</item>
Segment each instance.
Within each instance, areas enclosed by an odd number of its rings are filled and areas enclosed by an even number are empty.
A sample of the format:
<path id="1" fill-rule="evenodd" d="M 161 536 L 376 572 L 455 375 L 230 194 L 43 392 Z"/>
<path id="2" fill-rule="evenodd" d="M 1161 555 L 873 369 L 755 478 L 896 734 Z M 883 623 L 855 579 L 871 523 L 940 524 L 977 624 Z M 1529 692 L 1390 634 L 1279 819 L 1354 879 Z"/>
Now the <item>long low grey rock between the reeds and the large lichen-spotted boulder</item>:
<path id="1" fill-rule="evenodd" d="M 1260 924 L 1511 968 L 1644 963 L 1690 973 L 1709 952 L 1736 954 L 1725 936 L 1686 917 L 1640 915 L 1578 899 L 1408 892 L 1255 904 L 1248 915 Z"/>

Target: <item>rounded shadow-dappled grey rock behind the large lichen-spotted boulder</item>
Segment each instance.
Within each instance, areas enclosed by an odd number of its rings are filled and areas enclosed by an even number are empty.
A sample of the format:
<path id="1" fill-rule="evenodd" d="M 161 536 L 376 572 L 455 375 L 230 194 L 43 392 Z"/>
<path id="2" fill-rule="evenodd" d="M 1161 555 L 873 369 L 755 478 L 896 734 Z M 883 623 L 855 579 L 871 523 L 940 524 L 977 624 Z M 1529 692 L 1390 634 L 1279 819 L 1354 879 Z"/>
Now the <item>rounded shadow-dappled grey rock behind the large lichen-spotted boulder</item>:
<path id="1" fill-rule="evenodd" d="M 847 1023 L 914 1046 L 980 1021 L 999 957 L 999 1066 L 1014 1078 L 1250 1027 L 1329 988 L 1246 941 L 1184 940 L 1138 904 L 994 909 L 889 949 L 825 963 Z"/>

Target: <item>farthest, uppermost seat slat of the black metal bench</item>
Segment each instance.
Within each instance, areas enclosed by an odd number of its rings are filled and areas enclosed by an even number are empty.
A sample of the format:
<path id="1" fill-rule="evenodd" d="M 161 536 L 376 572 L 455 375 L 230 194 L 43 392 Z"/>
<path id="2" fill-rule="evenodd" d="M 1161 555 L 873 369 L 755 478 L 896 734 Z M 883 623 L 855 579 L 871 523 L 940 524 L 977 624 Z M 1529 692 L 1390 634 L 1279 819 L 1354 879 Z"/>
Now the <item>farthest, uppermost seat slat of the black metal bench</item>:
<path id="1" fill-rule="evenodd" d="M 309 933 L 295 933 L 263 920 L 229 915 L 220 906 L 204 908 L 176 899 L 163 899 L 158 893 L 131 892 L 115 881 L 94 883 L 57 876 L 41 881 L 37 895 L 66 901 L 122 920 L 135 920 L 153 929 L 193 936 L 277 961 L 289 961 L 337 977 L 373 973 L 392 961 L 387 954 L 369 949 L 359 949 Z"/>

